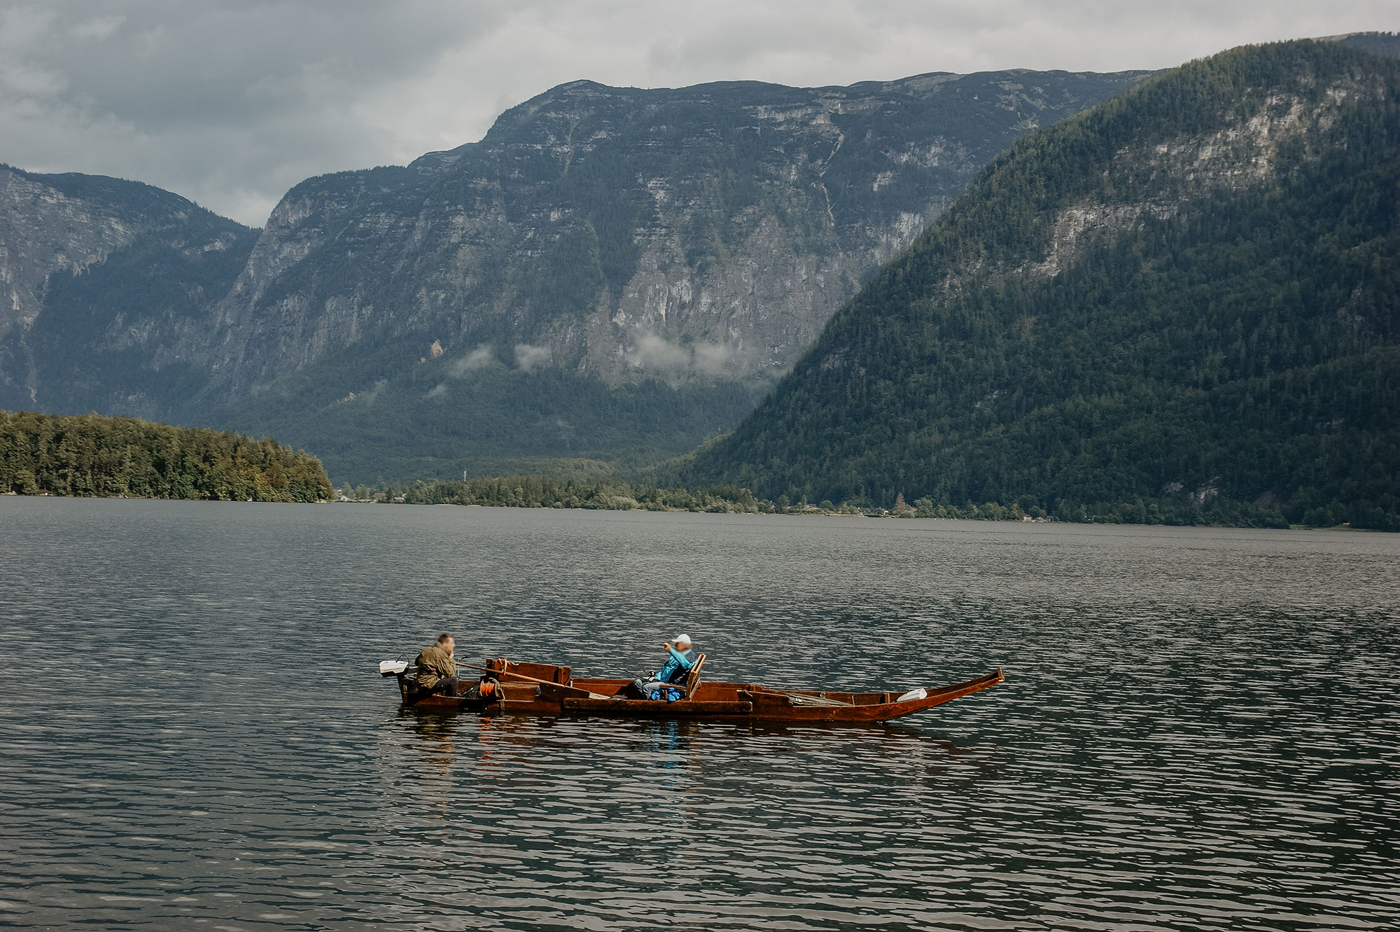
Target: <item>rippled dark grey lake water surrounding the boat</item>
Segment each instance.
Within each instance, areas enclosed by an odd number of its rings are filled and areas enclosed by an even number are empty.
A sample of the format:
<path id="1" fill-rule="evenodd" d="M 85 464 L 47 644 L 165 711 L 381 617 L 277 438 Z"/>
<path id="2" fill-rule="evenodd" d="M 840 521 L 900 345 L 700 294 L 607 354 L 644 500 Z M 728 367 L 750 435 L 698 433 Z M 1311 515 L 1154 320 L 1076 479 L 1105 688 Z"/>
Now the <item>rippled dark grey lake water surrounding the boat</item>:
<path id="1" fill-rule="evenodd" d="M 1393 929 L 1400 536 L 0 498 L 0 926 Z M 431 719 L 379 659 L 1004 686 Z"/>

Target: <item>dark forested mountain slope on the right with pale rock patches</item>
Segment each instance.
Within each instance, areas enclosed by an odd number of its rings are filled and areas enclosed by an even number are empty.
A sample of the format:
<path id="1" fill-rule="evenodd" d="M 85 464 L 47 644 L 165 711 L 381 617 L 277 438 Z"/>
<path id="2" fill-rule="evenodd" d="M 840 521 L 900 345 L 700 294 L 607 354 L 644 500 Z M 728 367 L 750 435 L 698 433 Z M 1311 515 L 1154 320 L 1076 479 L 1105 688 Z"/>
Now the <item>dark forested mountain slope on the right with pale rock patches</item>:
<path id="1" fill-rule="evenodd" d="M 1400 62 L 1242 48 L 993 160 L 680 479 L 1400 529 L 1397 337 Z"/>

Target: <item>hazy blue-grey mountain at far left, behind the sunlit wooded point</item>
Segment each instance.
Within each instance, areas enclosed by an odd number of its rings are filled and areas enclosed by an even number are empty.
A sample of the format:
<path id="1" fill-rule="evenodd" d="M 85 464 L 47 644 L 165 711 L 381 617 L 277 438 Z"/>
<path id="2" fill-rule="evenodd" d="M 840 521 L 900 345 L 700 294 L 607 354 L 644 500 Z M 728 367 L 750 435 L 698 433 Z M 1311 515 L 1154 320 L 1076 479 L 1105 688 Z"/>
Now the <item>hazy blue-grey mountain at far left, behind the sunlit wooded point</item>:
<path id="1" fill-rule="evenodd" d="M 0 165 L 0 407 L 195 417 L 258 231 L 150 185 Z"/>

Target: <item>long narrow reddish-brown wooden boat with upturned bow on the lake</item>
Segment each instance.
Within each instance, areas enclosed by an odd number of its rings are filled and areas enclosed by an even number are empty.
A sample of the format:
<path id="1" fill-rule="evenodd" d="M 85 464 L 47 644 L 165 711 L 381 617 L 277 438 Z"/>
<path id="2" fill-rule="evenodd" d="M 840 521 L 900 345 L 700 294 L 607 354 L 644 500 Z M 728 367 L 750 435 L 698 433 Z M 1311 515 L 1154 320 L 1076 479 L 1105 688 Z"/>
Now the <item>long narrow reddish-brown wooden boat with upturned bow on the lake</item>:
<path id="1" fill-rule="evenodd" d="M 701 679 L 704 654 L 683 684 L 683 696 L 662 700 L 627 698 L 623 691 L 631 680 L 571 676 L 567 666 L 518 663 L 498 658 L 489 661 L 487 676 L 498 686 L 486 698 L 475 696 L 417 694 L 413 669 L 384 663 L 384 676 L 398 676 L 405 708 L 414 712 L 480 712 L 486 715 L 549 715 L 606 718 L 690 718 L 707 721 L 763 722 L 888 722 L 892 718 L 921 712 L 934 705 L 979 693 L 1001 683 L 998 669 L 965 683 L 909 693 L 846 693 L 826 690 L 776 690 L 757 683 L 711 683 Z"/>

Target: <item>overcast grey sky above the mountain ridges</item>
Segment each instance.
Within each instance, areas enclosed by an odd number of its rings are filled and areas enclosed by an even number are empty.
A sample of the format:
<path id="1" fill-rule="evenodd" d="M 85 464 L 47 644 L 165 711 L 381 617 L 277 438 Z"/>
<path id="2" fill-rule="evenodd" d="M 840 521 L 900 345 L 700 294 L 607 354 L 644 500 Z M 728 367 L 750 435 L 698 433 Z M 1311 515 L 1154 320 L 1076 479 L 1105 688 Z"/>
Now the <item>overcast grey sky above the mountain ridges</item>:
<path id="1" fill-rule="evenodd" d="M 1397 0 L 0 0 L 0 161 L 260 225 L 298 181 L 480 139 L 575 78 L 851 84 L 1158 69 L 1400 29 Z"/>

